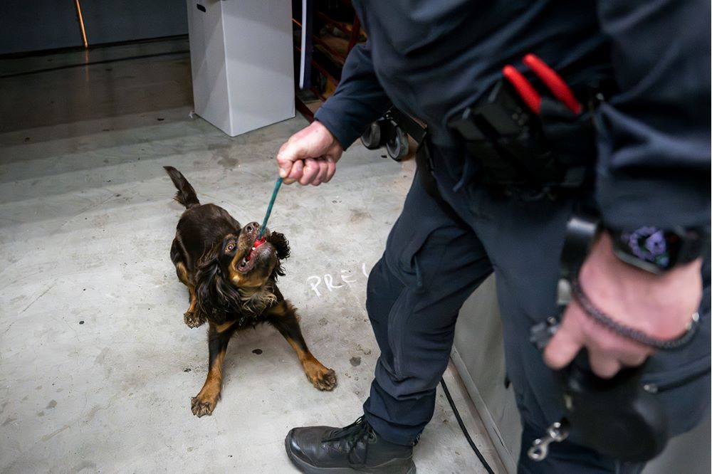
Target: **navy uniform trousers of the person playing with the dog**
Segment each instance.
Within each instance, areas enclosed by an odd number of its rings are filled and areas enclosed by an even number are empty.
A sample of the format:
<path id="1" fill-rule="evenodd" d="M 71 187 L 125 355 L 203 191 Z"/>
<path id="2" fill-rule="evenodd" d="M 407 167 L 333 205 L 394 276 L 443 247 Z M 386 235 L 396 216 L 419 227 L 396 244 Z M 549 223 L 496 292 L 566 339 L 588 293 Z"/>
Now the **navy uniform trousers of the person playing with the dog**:
<path id="1" fill-rule="evenodd" d="M 528 337 L 532 325 L 556 314 L 560 251 L 575 203 L 503 199 L 478 186 L 456 192 L 451 177 L 458 173 L 436 170 L 441 194 L 466 226 L 416 176 L 370 273 L 366 306 L 381 354 L 364 404 L 367 421 L 387 441 L 417 442 L 434 413 L 459 309 L 494 273 L 506 369 L 524 428 L 520 473 L 639 472 L 642 465 L 618 463 L 571 441 L 551 445 L 542 462 L 528 460 L 533 439 L 562 416 L 553 374 Z M 692 428 L 710 401 L 709 258 L 704 266 L 701 330 L 683 349 L 652 357 L 644 377 L 659 387 L 674 433 Z"/>

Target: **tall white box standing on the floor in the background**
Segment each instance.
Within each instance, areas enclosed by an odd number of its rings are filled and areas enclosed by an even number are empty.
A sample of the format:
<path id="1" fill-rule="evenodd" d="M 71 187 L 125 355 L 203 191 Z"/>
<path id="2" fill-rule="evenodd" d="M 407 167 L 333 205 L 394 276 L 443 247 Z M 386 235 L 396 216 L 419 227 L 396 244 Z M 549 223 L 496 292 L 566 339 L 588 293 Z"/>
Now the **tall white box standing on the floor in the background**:
<path id="1" fill-rule="evenodd" d="M 294 117 L 291 2 L 187 4 L 197 115 L 233 137 Z"/>

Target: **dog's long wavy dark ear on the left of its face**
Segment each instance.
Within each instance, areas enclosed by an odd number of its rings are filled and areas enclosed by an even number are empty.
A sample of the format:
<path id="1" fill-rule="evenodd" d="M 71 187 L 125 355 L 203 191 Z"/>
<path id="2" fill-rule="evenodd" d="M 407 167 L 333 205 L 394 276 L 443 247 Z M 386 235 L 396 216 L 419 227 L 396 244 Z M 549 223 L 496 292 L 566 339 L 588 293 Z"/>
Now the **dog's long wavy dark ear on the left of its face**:
<path id="1" fill-rule="evenodd" d="M 211 320 L 219 322 L 219 318 L 231 307 L 239 306 L 240 295 L 230 283 L 229 275 L 224 275 L 220 266 L 220 258 L 227 241 L 229 238 L 214 244 L 197 262 L 195 309 L 201 319 L 211 316 Z"/>

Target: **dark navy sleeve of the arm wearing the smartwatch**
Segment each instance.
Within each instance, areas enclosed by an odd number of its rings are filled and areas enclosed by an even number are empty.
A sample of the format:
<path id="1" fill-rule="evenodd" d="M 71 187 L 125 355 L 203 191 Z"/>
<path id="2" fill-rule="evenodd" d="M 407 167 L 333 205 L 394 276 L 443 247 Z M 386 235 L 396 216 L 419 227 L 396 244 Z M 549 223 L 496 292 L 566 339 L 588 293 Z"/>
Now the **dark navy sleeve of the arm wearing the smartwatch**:
<path id="1" fill-rule="evenodd" d="M 708 225 L 709 1 L 600 0 L 598 12 L 619 85 L 597 116 L 604 223 Z"/>

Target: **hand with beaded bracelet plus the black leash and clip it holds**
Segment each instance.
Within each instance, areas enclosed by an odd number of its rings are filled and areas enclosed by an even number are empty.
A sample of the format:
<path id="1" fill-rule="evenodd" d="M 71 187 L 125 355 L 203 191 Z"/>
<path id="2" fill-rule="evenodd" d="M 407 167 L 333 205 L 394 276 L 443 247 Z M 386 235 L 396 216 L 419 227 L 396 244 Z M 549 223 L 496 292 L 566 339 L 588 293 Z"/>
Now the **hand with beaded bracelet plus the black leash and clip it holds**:
<path id="1" fill-rule="evenodd" d="M 565 413 L 533 442 L 532 460 L 546 458 L 548 445 L 568 433 L 604 455 L 635 462 L 654 458 L 669 438 L 665 411 L 642 382 L 644 362 L 694 337 L 694 316 L 680 328 L 690 318 L 687 310 L 696 315 L 699 259 L 648 273 L 619 260 L 611 238 L 597 229 L 596 219 L 569 221 L 557 288 L 560 314 L 531 330 L 530 341 L 556 369 Z M 593 302 L 582 285 L 591 288 Z"/>

